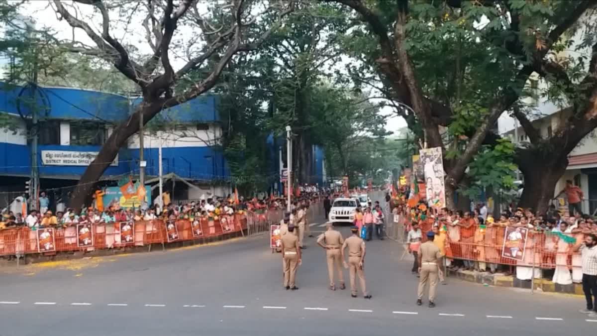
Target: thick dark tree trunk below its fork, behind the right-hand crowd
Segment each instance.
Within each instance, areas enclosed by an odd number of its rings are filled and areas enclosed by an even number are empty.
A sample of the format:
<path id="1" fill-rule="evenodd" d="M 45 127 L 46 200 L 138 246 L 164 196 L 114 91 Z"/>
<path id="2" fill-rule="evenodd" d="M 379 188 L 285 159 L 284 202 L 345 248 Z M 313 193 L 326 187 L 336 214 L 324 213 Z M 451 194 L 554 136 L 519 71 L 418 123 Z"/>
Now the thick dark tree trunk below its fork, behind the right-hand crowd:
<path id="1" fill-rule="evenodd" d="M 518 203 L 524 209 L 546 213 L 553 198 L 556 184 L 568 166 L 566 154 L 545 153 L 538 149 L 522 149 L 518 155 L 518 167 L 524 175 L 524 189 Z M 560 154 L 560 155 L 558 155 Z"/>

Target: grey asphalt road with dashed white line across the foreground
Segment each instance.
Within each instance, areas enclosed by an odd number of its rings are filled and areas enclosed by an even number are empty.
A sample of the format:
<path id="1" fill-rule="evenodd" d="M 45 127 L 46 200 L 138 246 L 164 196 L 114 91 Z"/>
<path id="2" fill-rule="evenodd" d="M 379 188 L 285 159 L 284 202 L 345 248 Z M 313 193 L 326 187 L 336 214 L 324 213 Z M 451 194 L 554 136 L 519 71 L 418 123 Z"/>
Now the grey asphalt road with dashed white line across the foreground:
<path id="1" fill-rule="evenodd" d="M 436 308 L 418 307 L 411 261 L 401 261 L 401 248 L 387 239 L 367 243 L 373 298 L 351 298 L 349 290 L 327 288 L 324 253 L 309 239 L 298 291 L 282 288 L 281 256 L 271 253 L 266 236 L 0 269 L 0 335 L 543 336 L 597 330 L 597 320 L 577 312 L 583 298 L 456 279 L 440 286 Z"/>

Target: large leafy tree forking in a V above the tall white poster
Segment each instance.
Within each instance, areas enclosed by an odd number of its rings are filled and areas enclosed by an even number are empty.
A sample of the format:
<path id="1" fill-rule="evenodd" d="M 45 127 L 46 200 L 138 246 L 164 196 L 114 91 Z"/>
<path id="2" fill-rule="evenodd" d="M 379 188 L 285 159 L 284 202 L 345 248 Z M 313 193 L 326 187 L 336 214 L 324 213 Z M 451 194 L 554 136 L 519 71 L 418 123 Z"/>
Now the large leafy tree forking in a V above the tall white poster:
<path id="1" fill-rule="evenodd" d="M 366 56 L 376 65 L 389 96 L 408 106 L 398 112 L 413 131 L 421 130 L 427 146 L 444 150 L 448 206 L 453 206 L 454 191 L 498 117 L 524 96 L 530 75 L 544 71 L 562 35 L 595 5 L 337 2 L 358 13 L 377 37 L 376 45 L 364 44 L 369 47 Z M 448 126 L 447 133 L 442 126 Z"/>

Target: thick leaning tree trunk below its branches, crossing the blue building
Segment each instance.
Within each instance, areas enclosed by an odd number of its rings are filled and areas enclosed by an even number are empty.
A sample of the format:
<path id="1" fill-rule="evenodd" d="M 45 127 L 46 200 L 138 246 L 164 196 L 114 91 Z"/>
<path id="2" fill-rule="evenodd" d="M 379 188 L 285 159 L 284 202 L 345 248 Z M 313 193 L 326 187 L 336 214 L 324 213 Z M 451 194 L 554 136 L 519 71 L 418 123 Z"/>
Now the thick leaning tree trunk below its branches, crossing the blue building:
<path id="1" fill-rule="evenodd" d="M 81 209 L 85 204 L 91 203 L 91 195 L 93 190 L 101 178 L 107 167 L 112 164 L 112 161 L 118 155 L 118 151 L 127 144 L 128 138 L 134 133 L 139 132 L 139 118 L 140 114 L 143 114 L 143 122 L 151 120 L 159 111 L 161 111 L 163 105 L 161 103 L 141 103 L 130 118 L 124 123 L 121 123 L 114 129 L 112 134 L 106 140 L 103 146 L 101 146 L 99 154 L 91 162 L 91 164 L 85 169 L 85 173 L 79 179 L 79 183 L 76 185 L 75 190 L 69 200 L 69 207 L 73 209 Z"/>

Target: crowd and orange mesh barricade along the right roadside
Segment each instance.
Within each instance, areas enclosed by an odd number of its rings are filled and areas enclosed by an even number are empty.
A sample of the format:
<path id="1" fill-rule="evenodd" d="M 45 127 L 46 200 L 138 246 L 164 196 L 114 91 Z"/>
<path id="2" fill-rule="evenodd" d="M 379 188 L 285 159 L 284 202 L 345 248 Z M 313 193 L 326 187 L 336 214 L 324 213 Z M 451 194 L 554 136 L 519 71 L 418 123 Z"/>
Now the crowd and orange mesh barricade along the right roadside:
<path id="1" fill-rule="evenodd" d="M 413 254 L 413 274 L 420 277 L 420 246 L 430 235 L 450 270 L 498 271 L 519 280 L 547 277 L 559 285 L 581 283 L 587 299 L 584 313 L 597 317 L 597 221 L 575 206 L 561 213 L 509 207 L 494 218 L 484 203 L 471 211 L 427 207 L 424 200 L 408 206 L 393 198 L 392 213 L 405 218 L 405 243 Z M 509 244 L 513 242 L 513 244 Z M 439 279 L 443 280 L 441 267 Z"/>

